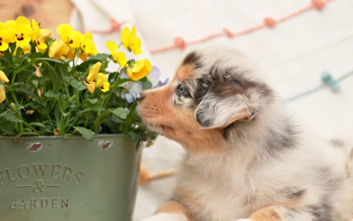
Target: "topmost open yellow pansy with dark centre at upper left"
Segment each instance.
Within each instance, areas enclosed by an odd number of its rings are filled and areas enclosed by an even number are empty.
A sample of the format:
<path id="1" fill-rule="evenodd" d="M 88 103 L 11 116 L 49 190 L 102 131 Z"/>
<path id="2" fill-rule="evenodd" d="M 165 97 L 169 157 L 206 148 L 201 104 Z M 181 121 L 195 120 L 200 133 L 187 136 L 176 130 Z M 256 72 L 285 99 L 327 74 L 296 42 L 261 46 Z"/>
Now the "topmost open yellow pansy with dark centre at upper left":
<path id="1" fill-rule="evenodd" d="M 28 18 L 19 16 L 16 21 L 10 20 L 4 23 L 19 45 L 25 45 L 32 39 L 32 27 Z"/>

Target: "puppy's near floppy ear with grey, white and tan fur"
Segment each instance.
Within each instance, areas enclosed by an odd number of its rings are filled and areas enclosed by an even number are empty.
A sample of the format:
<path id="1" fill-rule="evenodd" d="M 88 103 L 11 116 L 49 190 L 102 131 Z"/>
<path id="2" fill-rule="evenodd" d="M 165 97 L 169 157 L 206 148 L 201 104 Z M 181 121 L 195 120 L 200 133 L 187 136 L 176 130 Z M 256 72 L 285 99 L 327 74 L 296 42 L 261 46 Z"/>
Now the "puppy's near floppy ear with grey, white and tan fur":
<path id="1" fill-rule="evenodd" d="M 204 129 L 251 121 L 259 108 L 258 91 L 254 82 L 236 79 L 226 72 L 214 75 L 214 82 L 195 110 L 196 121 Z"/>

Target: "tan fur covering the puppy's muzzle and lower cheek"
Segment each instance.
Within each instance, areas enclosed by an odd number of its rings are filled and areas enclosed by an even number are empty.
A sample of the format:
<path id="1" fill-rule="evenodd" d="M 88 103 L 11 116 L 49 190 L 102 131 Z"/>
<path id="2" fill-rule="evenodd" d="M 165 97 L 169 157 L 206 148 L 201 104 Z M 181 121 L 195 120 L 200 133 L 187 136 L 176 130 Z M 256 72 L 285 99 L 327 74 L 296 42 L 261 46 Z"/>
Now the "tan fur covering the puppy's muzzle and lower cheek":
<path id="1" fill-rule="evenodd" d="M 171 103 L 174 88 L 171 85 L 163 89 L 146 91 L 140 105 L 140 115 L 149 126 L 160 127 L 162 134 L 191 151 L 219 152 L 215 147 L 226 147 L 221 129 L 200 129 L 194 110 L 178 108 Z"/>

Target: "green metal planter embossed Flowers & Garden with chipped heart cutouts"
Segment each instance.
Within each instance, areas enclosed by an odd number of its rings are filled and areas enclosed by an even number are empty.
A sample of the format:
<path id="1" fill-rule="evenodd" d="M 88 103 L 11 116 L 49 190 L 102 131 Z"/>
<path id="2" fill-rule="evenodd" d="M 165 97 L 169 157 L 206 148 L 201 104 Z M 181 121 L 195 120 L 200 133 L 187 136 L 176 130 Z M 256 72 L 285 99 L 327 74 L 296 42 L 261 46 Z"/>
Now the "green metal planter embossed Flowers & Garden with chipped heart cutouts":
<path id="1" fill-rule="evenodd" d="M 130 221 L 141 149 L 114 134 L 0 136 L 0 220 Z"/>

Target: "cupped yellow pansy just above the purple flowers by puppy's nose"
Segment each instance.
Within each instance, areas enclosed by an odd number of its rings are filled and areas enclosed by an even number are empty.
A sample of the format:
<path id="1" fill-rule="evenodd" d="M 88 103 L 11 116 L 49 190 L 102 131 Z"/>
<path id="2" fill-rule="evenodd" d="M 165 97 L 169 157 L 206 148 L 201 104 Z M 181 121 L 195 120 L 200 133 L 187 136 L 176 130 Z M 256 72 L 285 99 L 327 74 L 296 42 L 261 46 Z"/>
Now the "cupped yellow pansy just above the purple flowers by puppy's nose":
<path id="1" fill-rule="evenodd" d="M 147 58 L 144 58 L 138 62 L 134 62 L 131 66 L 128 66 L 126 74 L 130 79 L 137 81 L 147 76 L 151 71 L 151 62 Z"/>

